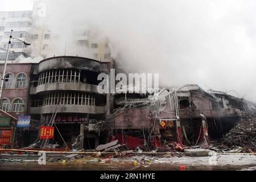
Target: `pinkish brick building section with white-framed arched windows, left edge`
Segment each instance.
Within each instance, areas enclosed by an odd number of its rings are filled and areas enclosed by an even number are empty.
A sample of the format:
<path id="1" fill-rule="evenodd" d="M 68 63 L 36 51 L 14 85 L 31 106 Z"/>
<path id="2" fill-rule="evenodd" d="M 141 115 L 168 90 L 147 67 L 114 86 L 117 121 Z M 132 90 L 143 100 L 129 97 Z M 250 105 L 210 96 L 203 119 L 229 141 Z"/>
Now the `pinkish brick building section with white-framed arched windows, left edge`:
<path id="1" fill-rule="evenodd" d="M 4 64 L 0 64 L 0 72 L 3 72 Z M 18 118 L 21 115 L 26 115 L 27 113 L 27 102 L 28 102 L 28 90 L 30 85 L 30 75 L 31 75 L 31 64 L 30 63 L 10 63 L 6 67 L 6 75 L 3 84 L 1 110 L 5 111 L 7 114 L 12 115 L 14 118 Z M 2 79 L 2 74 L 0 74 Z M 15 130 L 15 120 L 13 117 L 9 117 L 5 113 L 0 114 L 0 131 L 10 132 L 10 137 L 5 138 L 0 141 L 1 143 L 10 144 L 10 146 L 20 146 L 22 143 L 21 137 L 16 137 L 14 141 L 14 135 L 20 135 L 20 132 Z M 32 124 L 32 122 L 31 122 Z M 32 125 L 31 125 L 32 126 Z M 31 127 L 32 134 L 35 127 Z M 29 133 L 24 133 L 29 134 Z M 30 138 L 31 137 L 31 138 Z M 31 142 L 32 135 L 28 137 L 28 143 Z M 35 135 L 35 137 L 37 137 Z M 8 141 L 6 141 L 8 140 Z"/>

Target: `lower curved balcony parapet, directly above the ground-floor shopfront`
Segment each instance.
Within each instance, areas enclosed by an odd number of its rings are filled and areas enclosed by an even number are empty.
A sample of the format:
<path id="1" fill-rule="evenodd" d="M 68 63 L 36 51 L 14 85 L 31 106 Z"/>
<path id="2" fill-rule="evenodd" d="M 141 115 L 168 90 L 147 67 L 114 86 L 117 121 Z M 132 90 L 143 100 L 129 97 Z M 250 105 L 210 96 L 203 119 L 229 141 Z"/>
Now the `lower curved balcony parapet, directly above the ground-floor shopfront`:
<path id="1" fill-rule="evenodd" d="M 30 114 L 49 114 L 53 113 L 56 105 L 47 105 L 42 107 L 30 107 Z M 87 106 L 87 105 L 60 105 L 58 113 L 88 113 L 88 114 L 104 114 L 105 106 Z"/>

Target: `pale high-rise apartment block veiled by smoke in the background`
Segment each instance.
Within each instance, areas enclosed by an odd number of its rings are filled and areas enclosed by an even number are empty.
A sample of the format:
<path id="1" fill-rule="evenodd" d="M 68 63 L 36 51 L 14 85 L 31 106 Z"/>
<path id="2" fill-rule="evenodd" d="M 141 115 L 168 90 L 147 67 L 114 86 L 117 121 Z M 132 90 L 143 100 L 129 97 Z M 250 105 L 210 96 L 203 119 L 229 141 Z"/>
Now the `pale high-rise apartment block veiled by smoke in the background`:
<path id="1" fill-rule="evenodd" d="M 110 60 L 107 38 L 98 39 L 97 33 L 81 21 L 68 24 L 68 32 L 64 28 L 50 27 L 48 21 L 51 15 L 42 16 L 39 5 L 40 2 L 35 1 L 30 11 L 0 12 L 0 62 L 6 58 L 11 30 L 13 38 L 32 43 L 31 46 L 25 46 L 22 42 L 12 40 L 9 54 L 9 60 L 12 61 L 21 54 L 24 57 L 77 55 L 98 61 Z"/>

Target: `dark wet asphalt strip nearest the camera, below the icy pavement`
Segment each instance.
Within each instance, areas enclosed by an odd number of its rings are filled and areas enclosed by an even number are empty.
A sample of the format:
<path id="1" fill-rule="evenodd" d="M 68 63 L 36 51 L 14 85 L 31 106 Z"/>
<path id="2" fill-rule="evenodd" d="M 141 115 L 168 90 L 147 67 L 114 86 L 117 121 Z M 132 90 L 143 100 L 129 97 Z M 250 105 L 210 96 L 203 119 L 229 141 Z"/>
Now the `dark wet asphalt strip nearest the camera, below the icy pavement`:
<path id="1" fill-rule="evenodd" d="M 0 170 L 11 171 L 213 171 L 213 170 L 240 170 L 243 168 L 249 168 L 253 166 L 190 166 L 186 165 L 185 169 L 181 169 L 179 164 L 150 164 L 150 165 L 137 165 L 134 166 L 131 163 L 111 163 L 111 164 L 62 164 L 62 163 L 48 163 L 46 165 L 39 165 L 33 163 L 0 163 Z"/>

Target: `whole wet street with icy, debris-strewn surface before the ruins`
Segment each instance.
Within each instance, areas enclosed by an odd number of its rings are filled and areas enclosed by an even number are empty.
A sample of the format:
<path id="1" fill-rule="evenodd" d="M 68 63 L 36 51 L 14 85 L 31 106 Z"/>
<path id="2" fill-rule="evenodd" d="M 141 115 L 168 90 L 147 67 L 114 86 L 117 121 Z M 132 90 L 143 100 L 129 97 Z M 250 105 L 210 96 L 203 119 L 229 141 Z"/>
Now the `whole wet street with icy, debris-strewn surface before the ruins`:
<path id="1" fill-rule="evenodd" d="M 216 165 L 209 165 L 208 158 L 125 158 L 125 159 L 104 159 L 100 160 L 99 158 L 82 158 L 75 159 L 66 162 L 47 162 L 46 165 L 39 165 L 38 162 L 0 162 L 0 170 L 38 170 L 38 171 L 97 171 L 97 170 L 106 170 L 106 171 L 180 171 L 180 170 L 241 170 L 249 167 L 256 166 L 256 157 L 255 156 L 222 156 L 223 159 L 218 159 Z M 237 159 L 237 161 L 236 161 Z M 134 161 L 138 161 L 137 164 L 134 164 Z M 147 162 L 150 161 L 150 162 Z M 255 170 L 256 168 L 254 168 Z"/>

